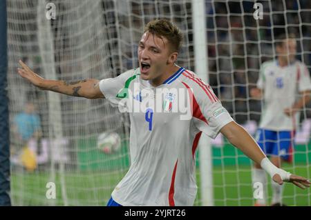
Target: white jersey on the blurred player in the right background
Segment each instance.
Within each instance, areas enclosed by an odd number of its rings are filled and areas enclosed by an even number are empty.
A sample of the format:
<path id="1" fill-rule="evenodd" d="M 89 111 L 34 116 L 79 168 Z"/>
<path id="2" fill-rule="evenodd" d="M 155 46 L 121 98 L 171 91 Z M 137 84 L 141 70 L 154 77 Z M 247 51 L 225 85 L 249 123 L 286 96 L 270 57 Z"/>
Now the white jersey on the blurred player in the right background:
<path id="1" fill-rule="evenodd" d="M 294 130 L 295 117 L 288 117 L 284 110 L 291 108 L 299 99 L 299 92 L 311 90 L 308 68 L 301 61 L 281 67 L 277 61 L 267 61 L 261 65 L 257 87 L 263 90 L 263 112 L 260 128 L 269 130 Z"/>

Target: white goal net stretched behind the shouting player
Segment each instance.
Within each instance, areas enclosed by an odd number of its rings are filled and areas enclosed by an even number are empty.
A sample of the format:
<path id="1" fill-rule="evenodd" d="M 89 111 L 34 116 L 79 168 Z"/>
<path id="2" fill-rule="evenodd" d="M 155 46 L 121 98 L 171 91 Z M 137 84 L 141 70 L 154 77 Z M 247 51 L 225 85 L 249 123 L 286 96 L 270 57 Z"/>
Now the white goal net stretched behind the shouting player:
<path id="1" fill-rule="evenodd" d="M 17 61 L 22 59 L 47 79 L 116 77 L 138 67 L 137 48 L 144 25 L 166 18 L 184 34 L 178 66 L 195 70 L 193 1 L 7 0 L 13 205 L 105 206 L 131 163 L 126 114 L 104 99 L 34 88 L 17 74 Z M 205 1 L 206 26 L 202 26 L 207 36 L 209 84 L 232 117 L 254 136 L 262 103 L 250 97 L 249 90 L 256 86 L 261 63 L 275 57 L 275 35 L 282 30 L 295 32 L 297 58 L 311 68 L 310 1 L 257 3 L 263 16 L 255 19 L 254 1 Z M 308 178 L 309 108 L 301 110 L 297 121 L 294 160 L 284 164 L 286 170 Z M 25 117 L 25 112 L 34 112 L 35 119 Z M 32 128 L 25 126 L 27 120 L 32 121 Z M 37 138 L 29 137 L 31 130 L 37 131 Z M 111 133 L 120 137 L 120 146 L 105 150 L 99 137 Z M 252 206 L 251 161 L 220 134 L 211 141 L 211 154 L 214 206 Z M 202 175 L 196 170 L 195 205 L 202 206 Z M 271 200 L 270 181 L 267 184 Z M 284 203 L 310 206 L 310 198 L 310 190 L 285 184 Z"/>

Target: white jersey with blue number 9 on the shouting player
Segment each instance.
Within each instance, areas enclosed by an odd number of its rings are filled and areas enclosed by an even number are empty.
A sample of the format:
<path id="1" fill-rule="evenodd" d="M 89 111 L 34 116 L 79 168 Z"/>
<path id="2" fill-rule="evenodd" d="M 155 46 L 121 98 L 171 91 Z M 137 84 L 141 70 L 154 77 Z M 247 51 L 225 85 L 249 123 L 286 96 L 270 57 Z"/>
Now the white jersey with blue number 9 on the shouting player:
<path id="1" fill-rule="evenodd" d="M 193 206 L 200 136 L 205 132 L 215 138 L 233 121 L 209 85 L 180 68 L 154 88 L 135 69 L 103 79 L 100 90 L 131 120 L 131 167 L 113 190 L 113 199 L 122 206 Z M 185 108 L 176 110 L 185 103 L 189 114 Z"/>

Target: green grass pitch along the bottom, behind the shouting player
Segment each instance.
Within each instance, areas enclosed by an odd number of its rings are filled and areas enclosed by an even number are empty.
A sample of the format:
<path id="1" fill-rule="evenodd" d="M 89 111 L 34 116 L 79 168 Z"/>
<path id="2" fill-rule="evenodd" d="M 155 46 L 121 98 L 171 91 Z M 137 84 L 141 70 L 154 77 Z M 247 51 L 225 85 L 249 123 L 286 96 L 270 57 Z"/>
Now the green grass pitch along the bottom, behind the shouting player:
<path id="1" fill-rule="evenodd" d="M 294 171 L 287 166 L 287 170 Z M 308 176 L 311 168 L 295 168 L 296 173 Z M 105 206 L 113 188 L 122 179 L 122 172 L 66 172 L 66 194 L 70 206 Z M 12 201 L 17 206 L 64 206 L 62 185 L 59 174 L 55 177 L 56 199 L 46 199 L 47 172 L 12 174 Z M 200 176 L 197 175 L 198 194 L 195 206 L 200 206 Z M 215 206 L 252 206 L 252 186 L 249 166 L 214 167 L 214 204 Z M 106 187 L 105 187 L 106 186 Z M 271 188 L 269 184 L 271 199 Z M 288 206 L 310 206 L 310 190 L 301 190 L 285 183 L 284 203 Z M 22 198 L 22 199 L 21 199 Z"/>

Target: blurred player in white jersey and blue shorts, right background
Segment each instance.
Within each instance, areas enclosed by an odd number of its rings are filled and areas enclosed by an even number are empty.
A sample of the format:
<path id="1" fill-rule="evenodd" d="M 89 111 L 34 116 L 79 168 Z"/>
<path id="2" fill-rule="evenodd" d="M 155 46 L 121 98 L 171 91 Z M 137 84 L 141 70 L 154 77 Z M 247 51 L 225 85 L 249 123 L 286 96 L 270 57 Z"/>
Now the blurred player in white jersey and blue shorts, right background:
<path id="1" fill-rule="evenodd" d="M 270 156 L 274 166 L 280 168 L 282 160 L 292 160 L 295 121 L 299 117 L 299 110 L 310 101 L 311 81 L 305 64 L 295 59 L 295 36 L 281 34 L 275 45 L 277 59 L 261 65 L 257 88 L 250 93 L 258 99 L 263 97 L 264 101 L 256 141 L 263 152 Z M 255 206 L 265 206 L 266 174 L 256 161 L 252 181 L 263 183 L 264 189 L 263 198 L 257 199 Z M 272 206 L 282 206 L 283 185 L 272 181 L 272 191 Z"/>

